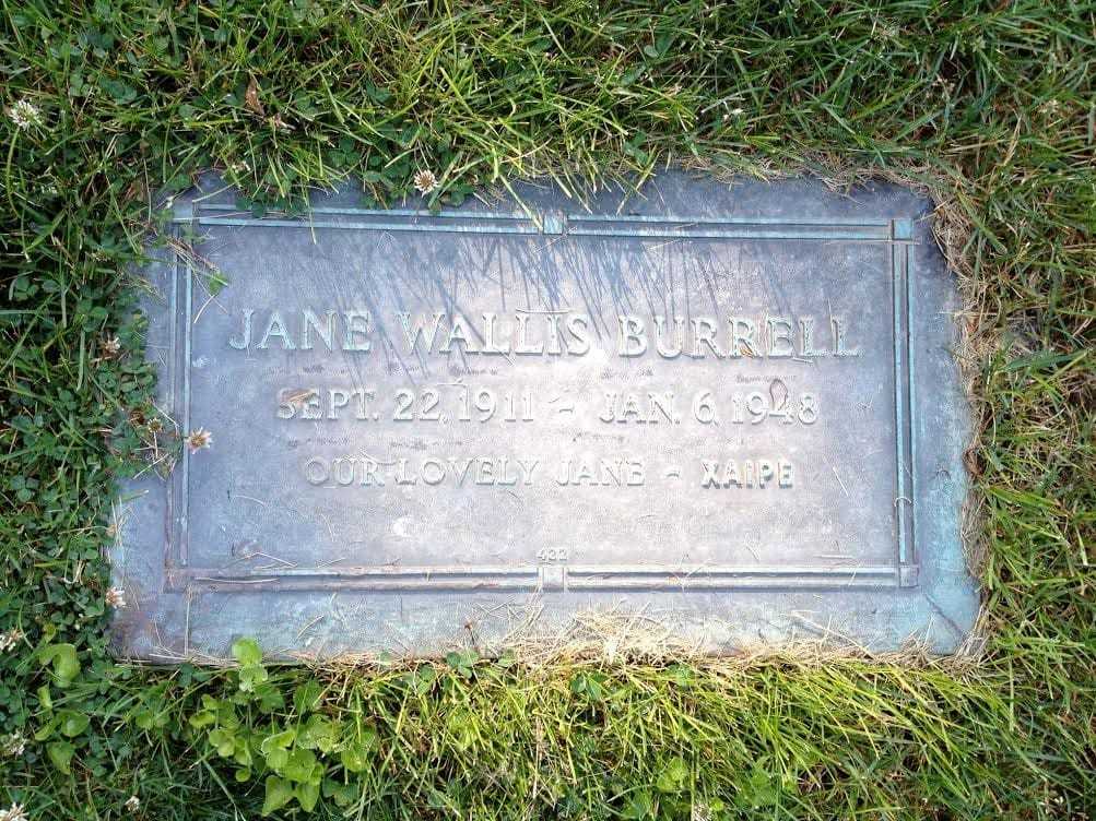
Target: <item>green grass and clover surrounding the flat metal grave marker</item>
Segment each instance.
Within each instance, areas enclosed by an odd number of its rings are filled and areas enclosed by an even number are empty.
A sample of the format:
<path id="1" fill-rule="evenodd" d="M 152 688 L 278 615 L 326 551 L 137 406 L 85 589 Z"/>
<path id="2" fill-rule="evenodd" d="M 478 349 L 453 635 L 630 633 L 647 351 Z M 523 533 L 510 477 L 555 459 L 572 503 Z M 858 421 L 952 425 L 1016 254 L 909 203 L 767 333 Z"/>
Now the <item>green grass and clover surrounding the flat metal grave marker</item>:
<path id="1" fill-rule="evenodd" d="M 0 0 L 0 735 L 26 739 L 0 758 L 0 808 L 1092 817 L 1094 15 L 1069 0 Z M 392 201 L 430 169 L 449 203 L 670 162 L 899 175 L 958 229 L 982 423 L 978 658 L 112 661 L 101 555 L 153 378 L 125 296 L 151 190 L 218 166 L 259 205 L 345 177 Z M 318 770 L 272 796 L 278 742 L 261 747 L 287 730 Z"/>

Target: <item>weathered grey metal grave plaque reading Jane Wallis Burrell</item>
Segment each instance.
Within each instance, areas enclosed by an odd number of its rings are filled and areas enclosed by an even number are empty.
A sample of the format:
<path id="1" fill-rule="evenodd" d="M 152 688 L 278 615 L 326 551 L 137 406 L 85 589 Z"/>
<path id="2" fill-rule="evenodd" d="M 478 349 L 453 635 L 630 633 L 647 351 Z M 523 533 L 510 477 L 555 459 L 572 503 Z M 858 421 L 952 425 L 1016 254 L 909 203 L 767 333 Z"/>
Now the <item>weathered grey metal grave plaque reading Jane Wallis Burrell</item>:
<path id="1" fill-rule="evenodd" d="M 585 206 L 358 200 L 175 201 L 193 253 L 145 271 L 147 351 L 212 441 L 124 488 L 119 654 L 491 651 L 592 614 L 708 652 L 966 638 L 927 200 L 684 173 Z"/>

